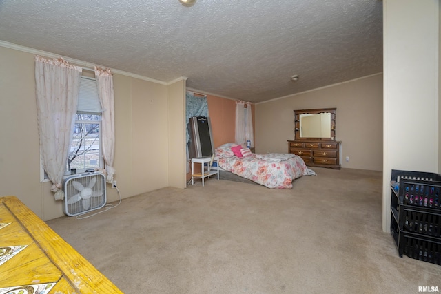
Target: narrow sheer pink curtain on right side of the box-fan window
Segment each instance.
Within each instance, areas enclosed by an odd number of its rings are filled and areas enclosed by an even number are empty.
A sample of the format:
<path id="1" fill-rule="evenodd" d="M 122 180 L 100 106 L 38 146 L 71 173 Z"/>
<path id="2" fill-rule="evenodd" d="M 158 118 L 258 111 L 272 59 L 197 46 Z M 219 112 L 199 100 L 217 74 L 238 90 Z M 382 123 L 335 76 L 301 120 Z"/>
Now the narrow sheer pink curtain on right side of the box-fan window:
<path id="1" fill-rule="evenodd" d="M 107 172 L 107 182 L 112 183 L 115 169 L 113 161 L 115 157 L 115 107 L 113 75 L 110 69 L 95 67 L 96 85 L 98 87 L 99 101 L 103 108 L 101 123 L 103 126 L 103 158 L 105 171 Z"/>

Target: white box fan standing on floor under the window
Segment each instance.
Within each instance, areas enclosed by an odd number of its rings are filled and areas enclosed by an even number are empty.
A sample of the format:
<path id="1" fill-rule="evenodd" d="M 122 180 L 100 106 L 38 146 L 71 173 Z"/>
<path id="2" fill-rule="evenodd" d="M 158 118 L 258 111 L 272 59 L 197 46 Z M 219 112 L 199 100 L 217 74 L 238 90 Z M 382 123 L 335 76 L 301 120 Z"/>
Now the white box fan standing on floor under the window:
<path id="1" fill-rule="evenodd" d="M 103 174 L 80 174 L 65 179 L 64 213 L 78 216 L 100 209 L 105 205 L 105 176 Z"/>

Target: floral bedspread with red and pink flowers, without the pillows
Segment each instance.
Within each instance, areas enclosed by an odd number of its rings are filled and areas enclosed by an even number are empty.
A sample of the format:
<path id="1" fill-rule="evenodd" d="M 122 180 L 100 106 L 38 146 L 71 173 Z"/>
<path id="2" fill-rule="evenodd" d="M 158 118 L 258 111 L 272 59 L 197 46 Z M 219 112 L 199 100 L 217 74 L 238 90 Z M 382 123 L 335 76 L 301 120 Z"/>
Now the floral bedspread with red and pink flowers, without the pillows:
<path id="1" fill-rule="evenodd" d="M 240 158 L 229 156 L 220 157 L 218 165 L 233 174 L 275 189 L 292 189 L 294 179 L 314 173 L 300 156 L 280 162 L 262 160 L 256 158 L 256 154 Z"/>

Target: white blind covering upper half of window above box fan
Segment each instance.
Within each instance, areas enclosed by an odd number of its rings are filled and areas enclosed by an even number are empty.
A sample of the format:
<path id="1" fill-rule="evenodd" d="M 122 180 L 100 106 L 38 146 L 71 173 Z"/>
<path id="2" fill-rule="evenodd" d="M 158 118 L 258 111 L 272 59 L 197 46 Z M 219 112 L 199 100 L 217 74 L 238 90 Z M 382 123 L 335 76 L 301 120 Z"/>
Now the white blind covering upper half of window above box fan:
<path id="1" fill-rule="evenodd" d="M 77 112 L 86 114 L 101 114 L 101 110 L 96 80 L 94 78 L 81 76 Z"/>

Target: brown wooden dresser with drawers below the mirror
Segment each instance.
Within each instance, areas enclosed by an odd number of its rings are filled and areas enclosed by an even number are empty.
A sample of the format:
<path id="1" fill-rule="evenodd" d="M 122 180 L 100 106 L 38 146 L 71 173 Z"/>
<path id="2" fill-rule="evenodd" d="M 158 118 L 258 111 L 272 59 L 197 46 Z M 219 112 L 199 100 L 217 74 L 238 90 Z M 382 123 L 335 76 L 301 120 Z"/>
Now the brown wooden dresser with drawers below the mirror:
<path id="1" fill-rule="evenodd" d="M 309 167 L 341 169 L 340 141 L 288 141 L 288 153 L 303 158 Z"/>

